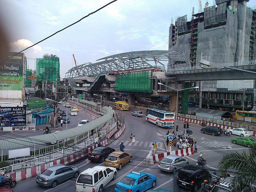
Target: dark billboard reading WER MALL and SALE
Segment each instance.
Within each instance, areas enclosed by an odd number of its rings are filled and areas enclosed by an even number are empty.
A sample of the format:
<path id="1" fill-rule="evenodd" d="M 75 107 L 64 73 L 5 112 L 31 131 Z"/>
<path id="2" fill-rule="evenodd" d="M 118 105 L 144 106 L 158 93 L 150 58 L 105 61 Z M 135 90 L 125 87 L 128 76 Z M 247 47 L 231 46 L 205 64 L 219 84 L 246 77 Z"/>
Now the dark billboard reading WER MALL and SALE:
<path id="1" fill-rule="evenodd" d="M 1 126 L 26 125 L 26 107 L 0 107 Z"/>

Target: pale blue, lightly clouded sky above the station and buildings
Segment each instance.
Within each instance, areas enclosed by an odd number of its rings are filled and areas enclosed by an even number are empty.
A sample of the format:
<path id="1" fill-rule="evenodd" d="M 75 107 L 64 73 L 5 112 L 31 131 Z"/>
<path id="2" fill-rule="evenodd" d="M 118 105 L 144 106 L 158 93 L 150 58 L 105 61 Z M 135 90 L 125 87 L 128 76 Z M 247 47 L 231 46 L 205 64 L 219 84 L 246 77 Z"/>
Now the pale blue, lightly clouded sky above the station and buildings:
<path id="1" fill-rule="evenodd" d="M 10 51 L 35 44 L 80 20 L 111 0 L 1 0 L 0 20 Z M 182 2 L 182 3 L 180 3 Z M 204 8 L 206 1 L 202 1 Z M 215 4 L 210 0 L 209 6 Z M 256 9 L 256 1 L 248 7 Z M 28 68 L 44 54 L 60 58 L 60 77 L 76 64 L 96 63 L 100 58 L 131 51 L 168 50 L 169 27 L 183 15 L 191 20 L 198 0 L 117 0 L 75 25 L 24 51 Z"/>

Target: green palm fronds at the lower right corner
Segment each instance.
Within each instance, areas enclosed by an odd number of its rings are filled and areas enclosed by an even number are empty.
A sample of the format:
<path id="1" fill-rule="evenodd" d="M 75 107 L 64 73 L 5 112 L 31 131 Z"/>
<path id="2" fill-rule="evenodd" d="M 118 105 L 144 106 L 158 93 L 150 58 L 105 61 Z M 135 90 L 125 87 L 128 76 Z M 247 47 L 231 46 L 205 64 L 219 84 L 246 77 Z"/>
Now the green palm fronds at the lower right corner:
<path id="1" fill-rule="evenodd" d="M 256 183 L 256 143 L 253 143 L 249 148 L 248 153 L 243 150 L 243 153 L 230 153 L 223 156 L 219 162 L 219 168 L 222 172 L 227 172 L 228 169 L 235 169 L 236 175 L 232 179 L 232 183 L 255 184 Z"/>

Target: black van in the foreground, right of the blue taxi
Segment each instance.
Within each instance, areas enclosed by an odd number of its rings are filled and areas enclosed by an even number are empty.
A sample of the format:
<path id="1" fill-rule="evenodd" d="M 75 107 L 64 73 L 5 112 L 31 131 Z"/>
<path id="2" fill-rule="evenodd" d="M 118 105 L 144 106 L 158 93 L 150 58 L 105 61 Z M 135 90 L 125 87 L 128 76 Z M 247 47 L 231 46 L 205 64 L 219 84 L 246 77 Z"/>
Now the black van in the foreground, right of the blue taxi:
<path id="1" fill-rule="evenodd" d="M 208 183 L 211 182 L 212 176 L 209 171 L 197 166 L 188 166 L 180 169 L 177 176 L 177 185 L 196 192 L 198 188 L 201 188 L 204 180 L 208 180 Z"/>

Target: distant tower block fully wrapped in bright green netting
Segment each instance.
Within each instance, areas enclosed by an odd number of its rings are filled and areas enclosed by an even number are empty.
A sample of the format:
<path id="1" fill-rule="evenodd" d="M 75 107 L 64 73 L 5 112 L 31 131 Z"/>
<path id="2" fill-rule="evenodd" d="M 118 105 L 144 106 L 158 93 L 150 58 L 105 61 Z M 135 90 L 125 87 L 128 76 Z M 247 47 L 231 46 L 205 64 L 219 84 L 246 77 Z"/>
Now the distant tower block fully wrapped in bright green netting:
<path id="1" fill-rule="evenodd" d="M 60 59 L 56 55 L 45 54 L 43 58 L 36 58 L 36 82 L 48 82 L 60 79 Z"/>

